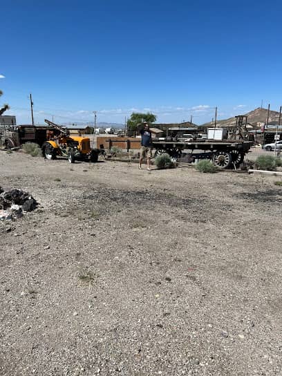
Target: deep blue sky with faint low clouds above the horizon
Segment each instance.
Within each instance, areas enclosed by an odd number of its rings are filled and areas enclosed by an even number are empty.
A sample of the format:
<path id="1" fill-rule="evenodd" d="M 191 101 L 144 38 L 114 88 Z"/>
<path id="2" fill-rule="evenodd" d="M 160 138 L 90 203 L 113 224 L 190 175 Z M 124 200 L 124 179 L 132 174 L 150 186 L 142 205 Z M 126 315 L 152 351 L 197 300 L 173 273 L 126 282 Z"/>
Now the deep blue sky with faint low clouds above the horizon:
<path id="1" fill-rule="evenodd" d="M 281 95 L 281 1 L 1 2 L 1 102 L 17 122 L 201 124 Z"/>

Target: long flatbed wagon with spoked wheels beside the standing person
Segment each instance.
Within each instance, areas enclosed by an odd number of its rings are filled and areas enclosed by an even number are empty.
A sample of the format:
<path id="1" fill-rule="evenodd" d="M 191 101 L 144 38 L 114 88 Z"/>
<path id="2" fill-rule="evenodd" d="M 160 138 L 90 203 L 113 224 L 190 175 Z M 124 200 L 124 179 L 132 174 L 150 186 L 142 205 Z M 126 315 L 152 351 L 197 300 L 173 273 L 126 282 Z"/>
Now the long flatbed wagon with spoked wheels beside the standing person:
<path id="1" fill-rule="evenodd" d="M 183 151 L 189 151 L 187 154 L 190 159 L 209 159 L 217 167 L 223 169 L 238 167 L 244 160 L 254 145 L 252 141 L 243 140 L 193 140 L 185 142 L 173 142 L 165 140 L 153 140 L 153 147 L 156 149 L 155 156 L 161 153 L 168 153 L 171 158 L 180 160 Z M 197 151 L 197 153 L 194 153 Z"/>

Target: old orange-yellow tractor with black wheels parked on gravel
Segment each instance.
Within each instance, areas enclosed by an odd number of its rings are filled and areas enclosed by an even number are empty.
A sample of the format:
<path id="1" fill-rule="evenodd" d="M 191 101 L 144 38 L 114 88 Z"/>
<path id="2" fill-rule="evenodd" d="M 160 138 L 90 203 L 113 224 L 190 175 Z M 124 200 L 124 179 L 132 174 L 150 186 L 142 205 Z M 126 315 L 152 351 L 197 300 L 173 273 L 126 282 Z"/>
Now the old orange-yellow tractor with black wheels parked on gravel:
<path id="1" fill-rule="evenodd" d="M 97 162 L 99 149 L 91 149 L 90 138 L 70 136 L 69 131 L 49 120 L 44 120 L 53 129 L 48 131 L 47 141 L 42 145 L 44 158 L 56 159 L 57 156 L 68 158 L 68 162 L 75 160 L 90 160 Z"/>

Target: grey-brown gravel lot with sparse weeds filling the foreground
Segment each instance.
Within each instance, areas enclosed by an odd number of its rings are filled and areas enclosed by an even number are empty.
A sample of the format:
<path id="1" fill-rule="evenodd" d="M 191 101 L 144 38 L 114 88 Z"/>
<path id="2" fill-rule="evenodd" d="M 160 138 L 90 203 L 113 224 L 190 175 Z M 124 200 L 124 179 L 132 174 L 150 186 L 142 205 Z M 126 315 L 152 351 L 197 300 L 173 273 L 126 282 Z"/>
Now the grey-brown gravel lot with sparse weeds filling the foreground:
<path id="1" fill-rule="evenodd" d="M 281 375 L 275 177 L 0 151 L 0 375 Z"/>

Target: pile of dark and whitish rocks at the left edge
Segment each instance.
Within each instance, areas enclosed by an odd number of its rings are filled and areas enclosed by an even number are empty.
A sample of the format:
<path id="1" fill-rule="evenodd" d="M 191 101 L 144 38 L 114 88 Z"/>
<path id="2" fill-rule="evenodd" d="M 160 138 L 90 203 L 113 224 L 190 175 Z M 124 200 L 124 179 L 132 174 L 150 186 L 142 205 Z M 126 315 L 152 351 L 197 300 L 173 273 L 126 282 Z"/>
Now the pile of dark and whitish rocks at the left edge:
<path id="1" fill-rule="evenodd" d="M 20 218 L 23 212 L 32 212 L 37 206 L 37 201 L 28 192 L 21 189 L 6 192 L 0 187 L 0 220 Z"/>

